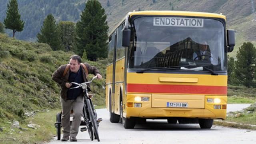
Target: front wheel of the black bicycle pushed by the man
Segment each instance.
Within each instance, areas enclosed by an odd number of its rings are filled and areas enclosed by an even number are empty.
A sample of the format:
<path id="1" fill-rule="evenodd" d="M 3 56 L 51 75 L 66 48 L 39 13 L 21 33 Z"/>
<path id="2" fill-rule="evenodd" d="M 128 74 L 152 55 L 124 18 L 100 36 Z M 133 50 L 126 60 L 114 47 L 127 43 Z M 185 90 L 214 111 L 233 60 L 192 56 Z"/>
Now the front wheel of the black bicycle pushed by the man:
<path id="1" fill-rule="evenodd" d="M 92 122 L 92 127 L 93 127 L 93 131 L 94 131 L 95 137 L 96 137 L 96 139 L 99 142 L 100 141 L 100 137 L 99 137 L 99 133 L 98 133 L 97 120 L 96 120 L 96 117 L 95 117 L 95 113 L 92 110 L 92 105 L 90 103 L 90 100 L 87 100 L 86 104 L 88 106 L 88 112 L 89 112 L 89 116 L 90 116 L 90 121 Z"/>

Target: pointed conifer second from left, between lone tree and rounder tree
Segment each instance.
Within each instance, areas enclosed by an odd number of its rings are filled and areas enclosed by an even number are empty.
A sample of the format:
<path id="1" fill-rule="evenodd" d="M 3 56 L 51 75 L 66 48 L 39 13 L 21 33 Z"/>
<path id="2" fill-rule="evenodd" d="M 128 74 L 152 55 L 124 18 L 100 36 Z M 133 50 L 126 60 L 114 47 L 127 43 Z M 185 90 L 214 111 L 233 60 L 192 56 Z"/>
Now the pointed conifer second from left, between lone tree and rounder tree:
<path id="1" fill-rule="evenodd" d="M 40 33 L 36 36 L 38 42 L 49 44 L 52 50 L 59 50 L 60 38 L 57 30 L 57 24 L 52 14 L 49 14 L 43 22 Z"/>

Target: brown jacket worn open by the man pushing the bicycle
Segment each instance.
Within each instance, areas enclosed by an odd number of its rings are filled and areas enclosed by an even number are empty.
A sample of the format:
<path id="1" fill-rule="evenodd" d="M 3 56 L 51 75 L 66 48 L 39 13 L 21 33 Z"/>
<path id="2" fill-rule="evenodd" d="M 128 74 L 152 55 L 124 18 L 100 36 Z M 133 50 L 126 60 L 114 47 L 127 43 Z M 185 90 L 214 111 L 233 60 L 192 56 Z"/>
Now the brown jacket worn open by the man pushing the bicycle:
<path id="1" fill-rule="evenodd" d="M 95 66 L 90 66 L 88 63 L 84 63 L 87 70 L 88 74 L 100 74 L 100 71 L 95 67 Z M 52 74 L 52 80 L 57 82 L 60 85 L 60 96 L 62 99 L 67 100 L 68 98 L 68 88 L 66 88 L 66 82 L 68 82 L 68 77 L 70 75 L 70 69 L 66 73 L 65 76 L 63 76 L 64 70 L 66 68 L 67 64 L 61 65 L 53 74 Z M 82 67 L 82 74 L 84 78 L 84 82 L 87 82 L 87 76 L 86 76 L 86 71 L 84 70 L 84 67 Z"/>

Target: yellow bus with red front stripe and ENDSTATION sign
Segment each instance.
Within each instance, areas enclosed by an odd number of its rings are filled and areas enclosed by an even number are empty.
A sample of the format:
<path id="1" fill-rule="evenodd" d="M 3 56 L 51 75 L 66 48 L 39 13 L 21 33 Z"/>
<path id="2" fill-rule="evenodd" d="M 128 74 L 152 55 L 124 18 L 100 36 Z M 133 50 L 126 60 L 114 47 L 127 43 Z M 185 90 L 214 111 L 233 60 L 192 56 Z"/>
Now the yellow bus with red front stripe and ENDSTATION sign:
<path id="1" fill-rule="evenodd" d="M 109 35 L 110 121 L 124 128 L 146 119 L 211 128 L 213 119 L 225 119 L 234 36 L 222 14 L 129 12 Z"/>

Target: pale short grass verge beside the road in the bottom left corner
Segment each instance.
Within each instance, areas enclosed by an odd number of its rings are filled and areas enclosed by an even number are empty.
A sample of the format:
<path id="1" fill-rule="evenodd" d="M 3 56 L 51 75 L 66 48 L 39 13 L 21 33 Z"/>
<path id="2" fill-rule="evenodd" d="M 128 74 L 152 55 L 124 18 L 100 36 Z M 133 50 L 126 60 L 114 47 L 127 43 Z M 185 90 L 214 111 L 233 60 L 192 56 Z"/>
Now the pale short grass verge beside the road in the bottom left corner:
<path id="1" fill-rule="evenodd" d="M 56 114 L 60 110 L 52 110 L 49 112 L 38 112 L 35 116 L 26 118 L 20 123 L 20 127 L 28 128 L 28 124 L 38 124 L 40 128 L 28 130 L 20 130 L 19 128 L 11 128 L 12 122 L 1 120 L 0 127 L 4 127 L 0 132 L 1 144 L 38 144 L 50 141 L 56 135 Z M 6 122 L 7 121 L 7 122 Z"/>

